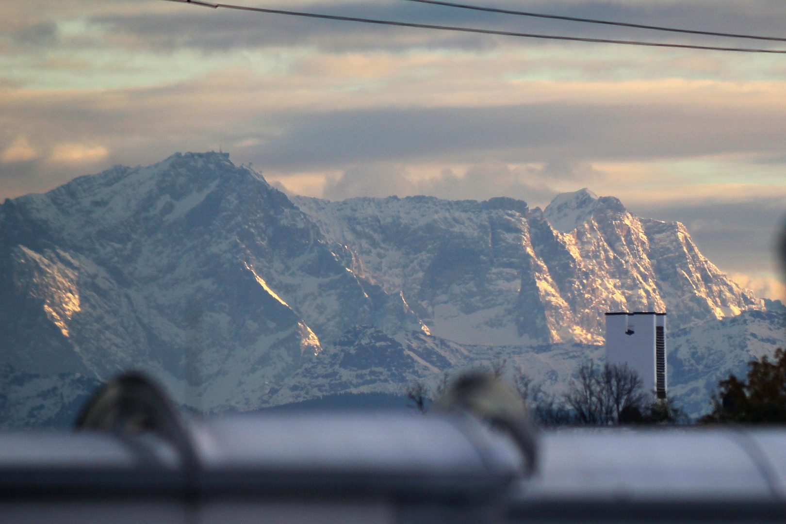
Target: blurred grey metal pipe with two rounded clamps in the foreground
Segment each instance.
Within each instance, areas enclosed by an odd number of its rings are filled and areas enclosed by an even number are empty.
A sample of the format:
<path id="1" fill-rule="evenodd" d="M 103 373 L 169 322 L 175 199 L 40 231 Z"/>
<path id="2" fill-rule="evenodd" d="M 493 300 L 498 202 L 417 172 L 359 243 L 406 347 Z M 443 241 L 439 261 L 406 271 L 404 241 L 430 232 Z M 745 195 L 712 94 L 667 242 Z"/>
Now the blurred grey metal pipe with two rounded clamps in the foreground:
<path id="1" fill-rule="evenodd" d="M 135 374 L 77 432 L 0 432 L 0 522 L 783 522 L 786 430 L 531 433 L 487 376 L 442 414 L 181 418 Z M 537 466 L 537 467 L 536 467 Z"/>

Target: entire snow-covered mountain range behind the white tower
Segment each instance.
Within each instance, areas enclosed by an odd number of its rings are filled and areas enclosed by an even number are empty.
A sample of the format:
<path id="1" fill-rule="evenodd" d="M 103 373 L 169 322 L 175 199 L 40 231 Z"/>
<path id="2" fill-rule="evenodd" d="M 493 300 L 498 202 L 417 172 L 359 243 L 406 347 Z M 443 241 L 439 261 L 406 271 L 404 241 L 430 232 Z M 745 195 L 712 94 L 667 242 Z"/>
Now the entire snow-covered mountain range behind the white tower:
<path id="1" fill-rule="evenodd" d="M 614 197 L 329 202 L 177 154 L 0 205 L 0 423 L 66 420 L 127 368 L 206 412 L 398 392 L 499 358 L 560 387 L 602 357 L 609 310 L 669 313 L 691 405 L 780 342 L 780 314 L 683 225 Z"/>

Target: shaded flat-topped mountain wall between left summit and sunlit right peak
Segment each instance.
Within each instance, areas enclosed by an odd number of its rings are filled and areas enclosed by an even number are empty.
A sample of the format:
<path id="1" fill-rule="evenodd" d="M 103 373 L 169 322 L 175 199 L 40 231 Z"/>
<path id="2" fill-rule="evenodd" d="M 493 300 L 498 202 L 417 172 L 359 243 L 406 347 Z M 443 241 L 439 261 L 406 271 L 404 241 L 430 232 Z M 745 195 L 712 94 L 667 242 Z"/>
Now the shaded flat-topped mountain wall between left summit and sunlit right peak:
<path id="1" fill-rule="evenodd" d="M 543 302 L 558 295 L 534 252 L 526 203 L 426 196 L 293 201 L 333 245 L 346 248 L 355 273 L 388 293 L 402 292 L 433 335 L 471 344 L 551 338 Z M 553 331 L 571 329 L 552 324 Z"/>

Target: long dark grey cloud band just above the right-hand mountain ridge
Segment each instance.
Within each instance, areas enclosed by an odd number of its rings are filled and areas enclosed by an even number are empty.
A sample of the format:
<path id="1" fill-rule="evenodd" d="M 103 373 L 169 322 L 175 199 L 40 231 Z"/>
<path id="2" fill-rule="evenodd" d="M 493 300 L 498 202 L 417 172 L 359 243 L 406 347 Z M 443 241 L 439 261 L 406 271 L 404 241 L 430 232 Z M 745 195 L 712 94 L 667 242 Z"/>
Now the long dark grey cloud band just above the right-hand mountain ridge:
<path id="1" fill-rule="evenodd" d="M 527 104 L 277 115 L 282 134 L 259 148 L 277 169 L 353 162 L 648 159 L 780 152 L 786 109 Z"/>

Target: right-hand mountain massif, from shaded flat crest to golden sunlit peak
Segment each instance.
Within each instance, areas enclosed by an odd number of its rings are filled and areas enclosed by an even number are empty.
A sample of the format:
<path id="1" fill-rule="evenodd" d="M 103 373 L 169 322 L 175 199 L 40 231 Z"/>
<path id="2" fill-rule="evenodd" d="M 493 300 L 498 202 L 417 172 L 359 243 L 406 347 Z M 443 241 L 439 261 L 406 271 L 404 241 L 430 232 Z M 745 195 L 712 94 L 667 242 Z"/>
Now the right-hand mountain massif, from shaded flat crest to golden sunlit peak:
<path id="1" fill-rule="evenodd" d="M 586 189 L 545 211 L 505 198 L 292 200 L 351 251 L 355 273 L 401 291 L 433 335 L 458 343 L 602 343 L 606 311 L 665 311 L 677 329 L 763 309 L 685 226 Z"/>

